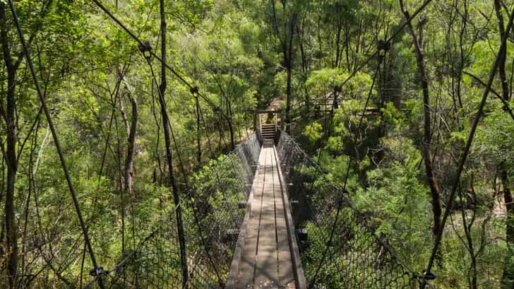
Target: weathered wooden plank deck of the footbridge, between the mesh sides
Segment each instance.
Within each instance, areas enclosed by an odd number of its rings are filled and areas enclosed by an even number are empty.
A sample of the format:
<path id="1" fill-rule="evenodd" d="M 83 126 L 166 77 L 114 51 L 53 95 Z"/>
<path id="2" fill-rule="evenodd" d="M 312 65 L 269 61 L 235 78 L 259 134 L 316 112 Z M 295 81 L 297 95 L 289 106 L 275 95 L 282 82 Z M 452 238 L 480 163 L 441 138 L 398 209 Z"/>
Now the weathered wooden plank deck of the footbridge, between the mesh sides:
<path id="1" fill-rule="evenodd" d="M 273 141 L 265 139 L 226 288 L 304 288 L 277 162 Z"/>

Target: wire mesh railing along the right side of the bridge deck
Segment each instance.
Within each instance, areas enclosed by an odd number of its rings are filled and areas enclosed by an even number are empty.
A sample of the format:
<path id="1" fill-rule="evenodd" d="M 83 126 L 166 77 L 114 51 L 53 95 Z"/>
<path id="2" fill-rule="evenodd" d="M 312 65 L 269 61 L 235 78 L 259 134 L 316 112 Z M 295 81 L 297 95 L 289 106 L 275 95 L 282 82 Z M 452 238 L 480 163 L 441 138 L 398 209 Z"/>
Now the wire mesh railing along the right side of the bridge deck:
<path id="1" fill-rule="evenodd" d="M 418 288 L 407 268 L 366 214 L 350 203 L 347 191 L 325 173 L 284 132 L 277 154 L 309 288 Z"/>

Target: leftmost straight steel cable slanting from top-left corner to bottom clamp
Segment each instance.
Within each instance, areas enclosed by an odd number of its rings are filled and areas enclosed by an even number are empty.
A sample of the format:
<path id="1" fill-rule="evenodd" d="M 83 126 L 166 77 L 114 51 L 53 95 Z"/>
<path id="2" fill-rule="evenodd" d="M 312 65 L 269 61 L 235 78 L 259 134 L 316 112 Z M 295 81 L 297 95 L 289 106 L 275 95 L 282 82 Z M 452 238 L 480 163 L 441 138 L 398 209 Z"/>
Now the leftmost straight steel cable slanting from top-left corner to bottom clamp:
<path id="1" fill-rule="evenodd" d="M 71 175 L 68 170 L 66 158 L 64 157 L 64 153 L 61 148 L 59 136 L 57 136 L 54 122 L 52 121 L 52 116 L 50 115 L 50 112 L 48 110 L 47 101 L 44 98 L 44 95 L 41 90 L 40 82 L 37 78 L 37 74 L 34 69 L 34 64 L 32 63 L 32 59 L 30 57 L 28 45 L 27 45 L 27 42 L 25 42 L 25 36 L 23 35 L 23 30 L 21 29 L 20 20 L 18 19 L 18 13 L 16 13 L 16 8 L 14 6 L 13 0 L 8 0 L 8 1 L 9 1 L 9 6 L 11 7 L 11 12 L 13 13 L 14 23 L 16 23 L 16 30 L 18 31 L 18 36 L 20 37 L 20 42 L 23 47 L 23 54 L 25 54 L 25 59 L 29 66 L 30 74 L 32 74 L 32 79 L 34 81 L 34 85 L 37 90 L 37 95 L 40 98 L 40 102 L 43 107 L 44 114 L 47 117 L 48 126 L 50 128 L 50 131 L 52 132 L 52 138 L 54 138 L 56 151 L 57 151 L 57 154 L 59 155 L 59 160 L 61 161 L 61 167 L 64 171 L 64 177 L 66 178 L 66 183 L 68 184 L 68 189 L 71 193 L 71 199 L 73 199 L 73 205 L 75 206 L 75 211 L 78 216 L 80 228 L 82 229 L 82 232 L 84 235 L 85 244 L 88 247 L 88 252 L 89 252 L 91 263 L 93 266 L 93 271 L 98 276 L 102 273 L 102 268 L 98 266 L 97 260 L 95 258 L 95 252 L 92 249 L 91 241 L 90 241 L 90 238 L 88 235 L 88 229 L 85 226 L 84 218 L 82 216 L 82 211 L 80 211 L 80 204 L 78 203 L 77 193 L 76 193 L 75 187 L 73 186 L 73 182 L 71 182 Z M 101 277 L 98 278 L 98 285 L 100 286 L 100 288 L 102 288 L 102 289 L 104 288 L 104 283 L 103 283 Z"/>

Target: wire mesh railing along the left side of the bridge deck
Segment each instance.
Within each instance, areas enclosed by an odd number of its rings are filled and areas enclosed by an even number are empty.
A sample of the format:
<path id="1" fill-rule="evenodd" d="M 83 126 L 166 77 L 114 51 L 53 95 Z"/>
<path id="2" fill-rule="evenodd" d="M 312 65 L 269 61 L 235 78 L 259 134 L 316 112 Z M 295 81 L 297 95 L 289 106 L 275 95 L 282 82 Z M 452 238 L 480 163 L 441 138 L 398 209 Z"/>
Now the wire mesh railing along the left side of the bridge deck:
<path id="1" fill-rule="evenodd" d="M 100 288 L 100 283 L 104 288 L 224 288 L 260 149 L 253 134 L 191 179 L 179 204 L 186 231 L 186 281 L 175 207 L 114 268 L 90 271 L 83 288 Z"/>

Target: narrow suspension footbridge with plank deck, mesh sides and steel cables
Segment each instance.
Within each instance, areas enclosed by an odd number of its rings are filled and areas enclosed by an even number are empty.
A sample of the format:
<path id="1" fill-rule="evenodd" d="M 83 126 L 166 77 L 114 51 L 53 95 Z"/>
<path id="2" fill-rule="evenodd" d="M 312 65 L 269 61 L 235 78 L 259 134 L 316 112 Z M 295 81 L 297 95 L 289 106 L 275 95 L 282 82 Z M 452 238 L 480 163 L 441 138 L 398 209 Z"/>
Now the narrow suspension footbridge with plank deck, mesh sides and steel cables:
<path id="1" fill-rule="evenodd" d="M 148 43 L 131 33 L 100 1 L 93 2 L 138 42 L 150 68 L 150 59 L 162 62 L 191 89 L 192 95 L 216 108 L 211 100 L 199 93 L 198 88 L 158 57 Z M 424 1 L 395 33 L 383 40 L 386 45 L 379 45 L 377 51 L 354 69 L 342 85 L 376 58 L 378 71 L 391 40 L 429 2 Z M 434 288 L 429 283 L 434 278 L 429 271 L 442 232 L 436 236 L 428 273 L 413 271 L 395 254 L 386 237 L 376 235 L 369 215 L 354 208 L 346 182 L 340 187 L 328 179 L 294 138 L 278 129 L 276 123 L 261 124 L 231 153 L 210 163 L 208 172 L 186 186 L 181 201 L 148 230 L 148 235 L 141 237 L 131 251 L 125 252 L 115 266 L 103 268 L 97 263 L 88 239 L 88 230 L 80 214 L 52 118 L 42 97 L 11 0 L 9 5 L 61 157 L 83 230 L 85 247 L 90 254 L 93 268 L 89 271 L 89 278 L 83 278 L 83 272 L 80 273 L 80 288 L 361 289 L 425 288 L 427 285 Z M 512 18 L 508 30 L 511 26 Z M 503 39 L 502 46 L 505 42 L 506 39 Z M 492 78 L 489 86 L 491 81 Z M 364 112 L 374 83 L 375 78 Z M 487 93 L 489 89 L 484 93 L 479 112 L 483 109 Z M 357 130 L 363 117 L 364 113 L 361 114 Z M 463 153 L 458 175 L 468 151 L 469 146 Z M 346 175 L 349 175 L 348 171 Z M 454 195 L 455 187 L 450 204 Z M 443 223 L 447 214 L 448 210 Z M 82 283 L 83 279 L 88 280 Z"/>

